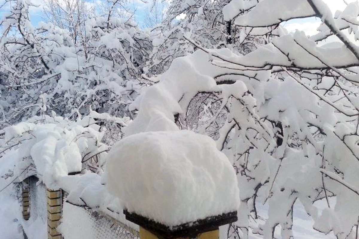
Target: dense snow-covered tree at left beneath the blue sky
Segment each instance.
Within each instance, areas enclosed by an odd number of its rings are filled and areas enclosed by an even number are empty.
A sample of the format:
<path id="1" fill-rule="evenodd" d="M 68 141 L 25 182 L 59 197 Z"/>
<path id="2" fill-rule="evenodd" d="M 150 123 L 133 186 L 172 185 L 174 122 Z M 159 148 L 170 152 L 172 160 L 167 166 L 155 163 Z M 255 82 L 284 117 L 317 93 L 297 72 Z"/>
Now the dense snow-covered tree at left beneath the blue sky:
<path id="1" fill-rule="evenodd" d="M 31 1 L 13 1 L 1 21 L 1 126 L 51 110 L 69 119 L 90 109 L 129 114 L 127 105 L 145 83 L 140 75 L 152 45 L 131 19 L 113 16 L 120 3 L 111 1 L 107 15 L 88 18 L 75 15 L 84 13 L 79 4 L 86 7 L 78 1 L 62 9 L 55 24 L 35 28 Z"/>

